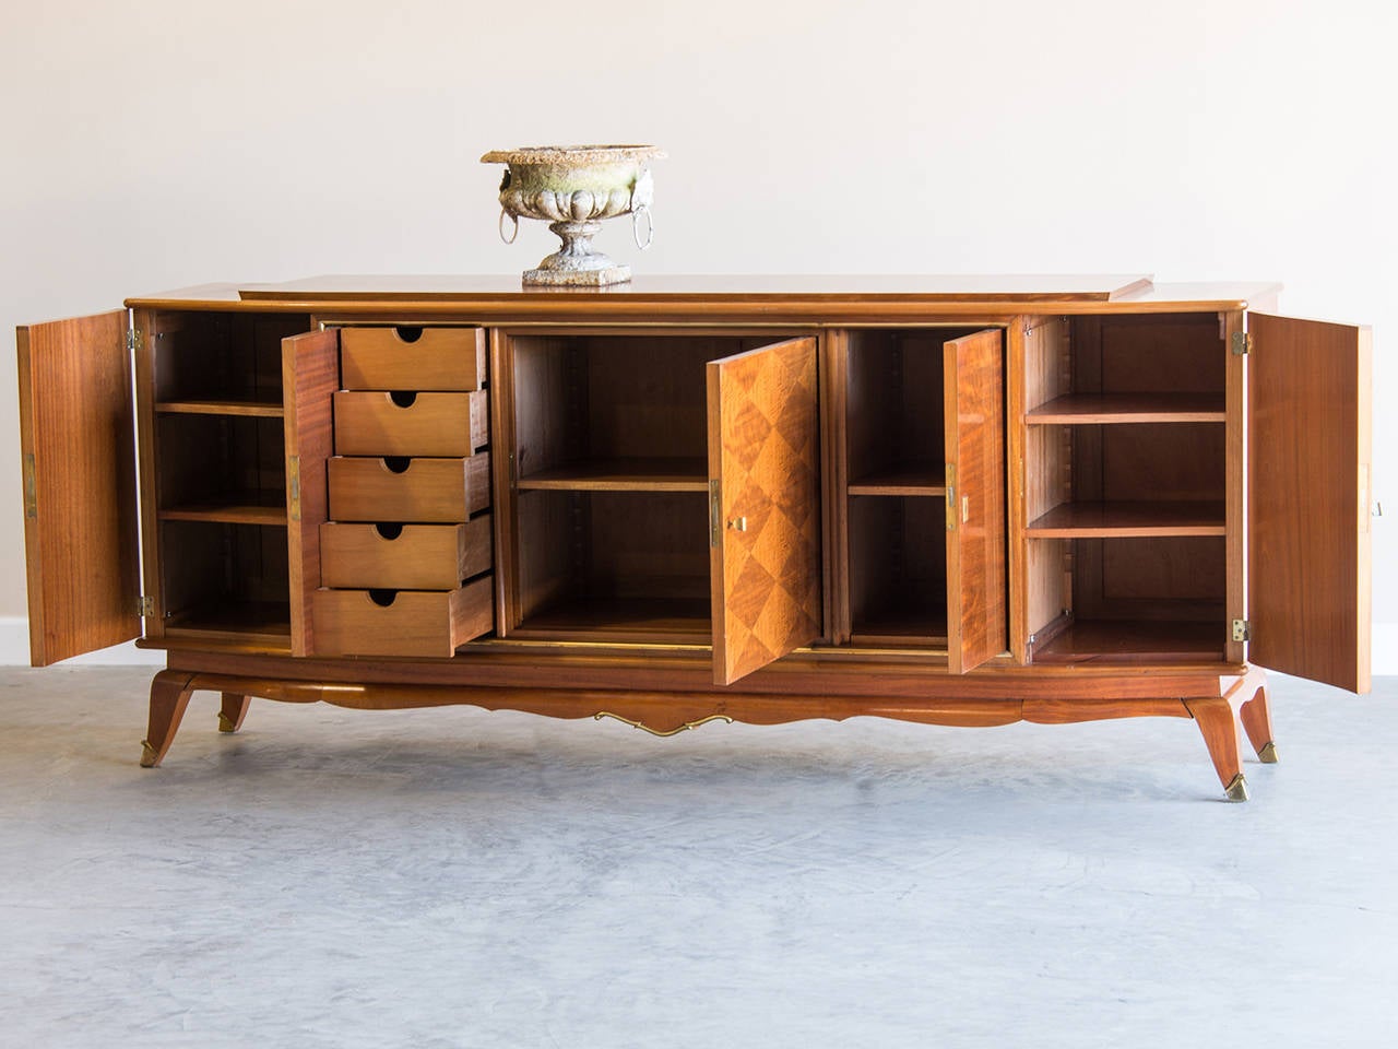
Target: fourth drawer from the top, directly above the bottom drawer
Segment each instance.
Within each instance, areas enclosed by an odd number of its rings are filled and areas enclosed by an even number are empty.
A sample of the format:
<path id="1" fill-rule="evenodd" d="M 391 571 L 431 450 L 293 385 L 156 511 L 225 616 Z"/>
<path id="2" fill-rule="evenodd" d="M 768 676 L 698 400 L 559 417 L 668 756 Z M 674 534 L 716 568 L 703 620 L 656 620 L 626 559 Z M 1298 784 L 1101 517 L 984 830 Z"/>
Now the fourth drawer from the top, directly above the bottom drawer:
<path id="1" fill-rule="evenodd" d="M 387 531 L 387 534 L 386 534 Z M 491 571 L 491 515 L 466 524 L 320 526 L 320 585 L 341 589 L 452 590 Z"/>

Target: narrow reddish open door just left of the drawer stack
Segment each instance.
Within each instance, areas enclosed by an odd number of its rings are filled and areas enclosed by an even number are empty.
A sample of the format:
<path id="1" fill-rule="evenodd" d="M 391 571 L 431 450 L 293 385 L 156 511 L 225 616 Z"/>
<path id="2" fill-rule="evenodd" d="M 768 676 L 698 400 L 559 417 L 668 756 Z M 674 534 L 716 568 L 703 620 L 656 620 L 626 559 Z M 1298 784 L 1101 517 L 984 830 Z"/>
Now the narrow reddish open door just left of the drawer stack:
<path id="1" fill-rule="evenodd" d="M 334 455 L 331 406 L 340 389 L 340 331 L 309 331 L 281 343 L 287 436 L 287 566 L 291 655 L 316 650 L 310 607 L 320 586 L 320 526 L 329 512 L 326 460 Z"/>

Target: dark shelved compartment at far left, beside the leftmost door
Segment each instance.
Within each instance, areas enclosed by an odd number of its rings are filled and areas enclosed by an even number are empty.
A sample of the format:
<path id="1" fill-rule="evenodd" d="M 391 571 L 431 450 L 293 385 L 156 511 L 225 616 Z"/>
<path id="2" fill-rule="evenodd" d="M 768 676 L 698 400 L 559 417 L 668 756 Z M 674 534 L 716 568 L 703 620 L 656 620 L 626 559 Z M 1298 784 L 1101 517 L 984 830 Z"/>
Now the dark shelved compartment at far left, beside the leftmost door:
<path id="1" fill-rule="evenodd" d="M 137 324 L 164 631 L 285 638 L 281 340 L 310 317 L 151 311 Z"/>

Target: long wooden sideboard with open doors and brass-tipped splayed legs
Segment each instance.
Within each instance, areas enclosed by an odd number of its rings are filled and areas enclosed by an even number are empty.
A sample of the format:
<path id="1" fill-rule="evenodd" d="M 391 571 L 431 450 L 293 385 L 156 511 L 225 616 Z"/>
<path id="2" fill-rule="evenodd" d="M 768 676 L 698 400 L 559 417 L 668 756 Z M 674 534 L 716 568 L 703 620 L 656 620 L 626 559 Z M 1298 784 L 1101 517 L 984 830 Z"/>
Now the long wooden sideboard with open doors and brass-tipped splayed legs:
<path id="1" fill-rule="evenodd" d="M 1153 715 L 1241 800 L 1260 667 L 1369 687 L 1369 334 L 1275 294 L 326 277 L 21 329 L 32 659 L 165 649 L 144 765 L 196 690 Z"/>

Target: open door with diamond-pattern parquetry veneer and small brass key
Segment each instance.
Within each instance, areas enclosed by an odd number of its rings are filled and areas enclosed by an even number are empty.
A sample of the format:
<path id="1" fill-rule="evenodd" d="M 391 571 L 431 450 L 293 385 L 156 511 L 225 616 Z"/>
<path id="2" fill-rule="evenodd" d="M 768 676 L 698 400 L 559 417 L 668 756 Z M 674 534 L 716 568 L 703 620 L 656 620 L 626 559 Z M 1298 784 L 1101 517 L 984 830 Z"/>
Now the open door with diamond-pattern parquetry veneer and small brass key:
<path id="1" fill-rule="evenodd" d="M 815 340 L 710 361 L 714 683 L 821 634 L 821 420 Z"/>

